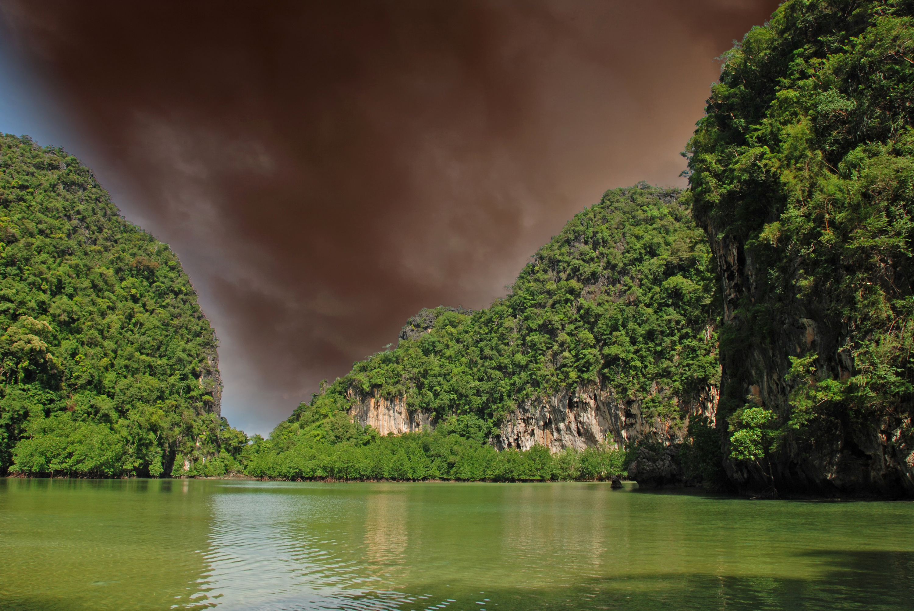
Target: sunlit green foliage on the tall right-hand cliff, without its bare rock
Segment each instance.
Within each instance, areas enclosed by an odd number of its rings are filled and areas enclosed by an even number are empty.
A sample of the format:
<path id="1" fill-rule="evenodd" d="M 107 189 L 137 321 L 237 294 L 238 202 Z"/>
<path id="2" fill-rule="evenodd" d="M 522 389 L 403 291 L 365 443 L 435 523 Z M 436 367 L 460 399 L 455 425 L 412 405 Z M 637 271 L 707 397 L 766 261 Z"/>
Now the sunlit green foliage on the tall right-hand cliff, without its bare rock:
<path id="1" fill-rule="evenodd" d="M 757 460 L 815 422 L 909 408 L 912 9 L 785 2 L 725 55 L 689 143 L 696 218 L 765 270 L 753 279 L 760 299 L 743 300 L 721 333 L 725 363 L 737 370 L 747 342 L 771 342 L 780 309 L 796 300 L 840 343 L 837 354 L 792 357 L 791 406 L 747 404 L 739 374 L 723 389 L 734 458 Z"/>

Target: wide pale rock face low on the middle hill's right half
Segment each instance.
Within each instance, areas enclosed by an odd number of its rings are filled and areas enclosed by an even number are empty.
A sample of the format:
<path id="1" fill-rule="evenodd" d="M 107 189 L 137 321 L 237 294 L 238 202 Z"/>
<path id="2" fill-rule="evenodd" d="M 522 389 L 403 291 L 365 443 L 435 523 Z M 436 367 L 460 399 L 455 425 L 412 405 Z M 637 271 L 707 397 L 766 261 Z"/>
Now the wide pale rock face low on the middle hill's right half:
<path id="1" fill-rule="evenodd" d="M 500 425 L 496 448 L 529 449 L 539 444 L 553 452 L 584 449 L 601 443 L 619 446 L 648 440 L 664 445 L 680 443 L 688 417 L 700 414 L 712 420 L 717 388 L 710 387 L 698 401 L 683 409 L 682 420 L 664 420 L 643 414 L 641 401 L 622 401 L 597 385 L 538 398 L 518 406 Z"/>

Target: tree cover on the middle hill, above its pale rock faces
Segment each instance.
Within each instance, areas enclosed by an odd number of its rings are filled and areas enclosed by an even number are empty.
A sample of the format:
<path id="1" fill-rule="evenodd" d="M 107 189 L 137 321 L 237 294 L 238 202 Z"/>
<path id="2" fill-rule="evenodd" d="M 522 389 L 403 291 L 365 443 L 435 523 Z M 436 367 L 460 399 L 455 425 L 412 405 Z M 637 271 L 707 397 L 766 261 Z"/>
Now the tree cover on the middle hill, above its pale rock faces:
<path id="1" fill-rule="evenodd" d="M 679 195 L 647 184 L 607 192 L 537 250 L 507 297 L 472 315 L 441 312 L 429 333 L 356 363 L 315 405 L 377 391 L 497 427 L 528 398 L 600 378 L 657 413 L 699 395 L 717 375 L 714 280 Z"/>

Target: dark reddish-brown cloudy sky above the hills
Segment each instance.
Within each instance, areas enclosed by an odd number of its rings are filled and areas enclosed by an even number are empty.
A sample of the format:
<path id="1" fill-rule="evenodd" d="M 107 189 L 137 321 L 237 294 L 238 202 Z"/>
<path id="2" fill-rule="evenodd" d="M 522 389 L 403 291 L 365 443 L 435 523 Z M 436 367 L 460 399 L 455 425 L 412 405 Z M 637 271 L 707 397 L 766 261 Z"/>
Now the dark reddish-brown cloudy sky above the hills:
<path id="1" fill-rule="evenodd" d="M 609 188 L 685 186 L 776 0 L 0 0 L 0 132 L 168 243 L 265 435 L 424 307 L 486 307 Z"/>

